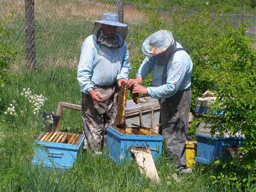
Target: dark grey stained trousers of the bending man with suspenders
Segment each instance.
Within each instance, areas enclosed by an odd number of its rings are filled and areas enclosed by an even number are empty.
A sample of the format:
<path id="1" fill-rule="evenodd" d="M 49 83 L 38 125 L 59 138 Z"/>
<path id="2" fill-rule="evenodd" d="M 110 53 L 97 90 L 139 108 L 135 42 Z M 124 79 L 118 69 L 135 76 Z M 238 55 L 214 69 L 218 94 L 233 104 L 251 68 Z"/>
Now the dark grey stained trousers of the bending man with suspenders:
<path id="1" fill-rule="evenodd" d="M 170 98 L 159 100 L 160 134 L 166 140 L 167 152 L 175 160 L 175 166 L 186 166 L 186 132 L 191 107 L 191 88 L 178 91 Z M 162 132 L 162 133 L 161 133 Z"/>

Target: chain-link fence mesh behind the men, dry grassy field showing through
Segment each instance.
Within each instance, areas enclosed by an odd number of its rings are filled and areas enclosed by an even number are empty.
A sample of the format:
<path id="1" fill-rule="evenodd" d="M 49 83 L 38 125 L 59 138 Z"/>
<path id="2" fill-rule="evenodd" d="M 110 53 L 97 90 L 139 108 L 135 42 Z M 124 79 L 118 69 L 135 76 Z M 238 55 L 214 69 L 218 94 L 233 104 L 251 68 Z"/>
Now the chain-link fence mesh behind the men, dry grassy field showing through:
<path id="1" fill-rule="evenodd" d="M 31 0 L 26 0 L 28 3 Z M 25 1 L 25 2 L 26 2 Z M 140 30 L 134 28 L 137 24 L 146 24 L 147 16 L 140 8 L 147 9 L 146 5 L 133 4 L 125 1 L 124 23 L 129 25 L 129 31 Z M 69 65 L 75 67 L 78 64 L 81 44 L 91 34 L 94 20 L 101 19 L 104 12 L 115 12 L 116 1 L 114 0 L 38 0 L 34 5 L 34 21 L 25 21 L 25 14 L 29 17 L 27 5 L 24 0 L 0 0 L 0 18 L 13 14 L 10 19 L 11 28 L 15 29 L 11 41 L 16 49 L 21 52 L 21 63 L 26 63 L 26 49 L 32 50 L 27 53 L 30 57 L 34 54 L 34 48 L 29 43 L 34 37 L 26 37 L 26 30 L 35 29 L 35 49 L 37 65 L 58 66 Z M 26 10 L 26 11 L 25 11 Z M 149 11 L 159 12 L 162 18 L 175 11 L 175 8 L 157 6 Z M 31 13 L 31 12 L 30 12 Z M 223 15 L 233 22 L 236 27 L 240 21 L 248 19 L 254 24 L 248 28 L 248 34 L 255 38 L 255 15 Z M 35 28 L 25 25 L 34 22 Z M 27 39 L 27 40 L 26 40 Z M 27 41 L 27 42 L 26 42 Z M 132 39 L 127 40 L 128 46 L 136 44 Z M 28 45 L 28 46 L 27 46 Z M 130 50 L 131 52 L 132 50 Z M 130 53 L 133 55 L 133 52 Z"/>

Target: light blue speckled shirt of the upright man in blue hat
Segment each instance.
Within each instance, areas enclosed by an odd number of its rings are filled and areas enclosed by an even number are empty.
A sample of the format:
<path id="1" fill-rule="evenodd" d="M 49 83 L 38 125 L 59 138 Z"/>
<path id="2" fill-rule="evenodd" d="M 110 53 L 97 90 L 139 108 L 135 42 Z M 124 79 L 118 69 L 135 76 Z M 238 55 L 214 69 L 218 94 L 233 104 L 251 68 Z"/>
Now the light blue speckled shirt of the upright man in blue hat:
<path id="1" fill-rule="evenodd" d="M 128 78 L 129 51 L 124 42 L 121 48 L 108 48 L 96 43 L 96 35 L 83 42 L 77 69 L 80 90 L 85 94 L 95 86 L 109 86 L 121 78 Z"/>

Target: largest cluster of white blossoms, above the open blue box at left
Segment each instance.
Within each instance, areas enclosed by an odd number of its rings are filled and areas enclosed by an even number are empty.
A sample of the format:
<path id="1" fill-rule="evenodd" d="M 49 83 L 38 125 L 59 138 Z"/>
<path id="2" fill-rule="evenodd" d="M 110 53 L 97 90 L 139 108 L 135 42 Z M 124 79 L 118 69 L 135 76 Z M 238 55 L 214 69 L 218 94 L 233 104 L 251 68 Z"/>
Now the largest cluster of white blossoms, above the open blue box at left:
<path id="1" fill-rule="evenodd" d="M 21 95 L 24 95 L 24 97 L 27 98 L 28 102 L 31 104 L 33 114 L 38 114 L 41 107 L 44 106 L 44 101 L 47 101 L 47 98 L 42 96 L 42 94 L 32 95 L 32 92 L 29 90 L 29 88 L 24 88 L 23 92 L 21 92 Z"/>

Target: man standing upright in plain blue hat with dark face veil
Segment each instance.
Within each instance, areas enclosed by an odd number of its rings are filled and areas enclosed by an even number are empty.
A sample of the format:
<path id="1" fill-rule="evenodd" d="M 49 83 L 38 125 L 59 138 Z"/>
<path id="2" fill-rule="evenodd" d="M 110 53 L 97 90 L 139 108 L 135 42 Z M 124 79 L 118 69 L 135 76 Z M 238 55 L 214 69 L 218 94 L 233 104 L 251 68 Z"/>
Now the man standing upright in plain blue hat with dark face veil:
<path id="1" fill-rule="evenodd" d="M 93 34 L 81 49 L 77 80 L 82 96 L 84 148 L 99 150 L 106 127 L 114 124 L 117 90 L 128 80 L 129 52 L 125 42 L 127 25 L 107 12 L 94 22 Z"/>

